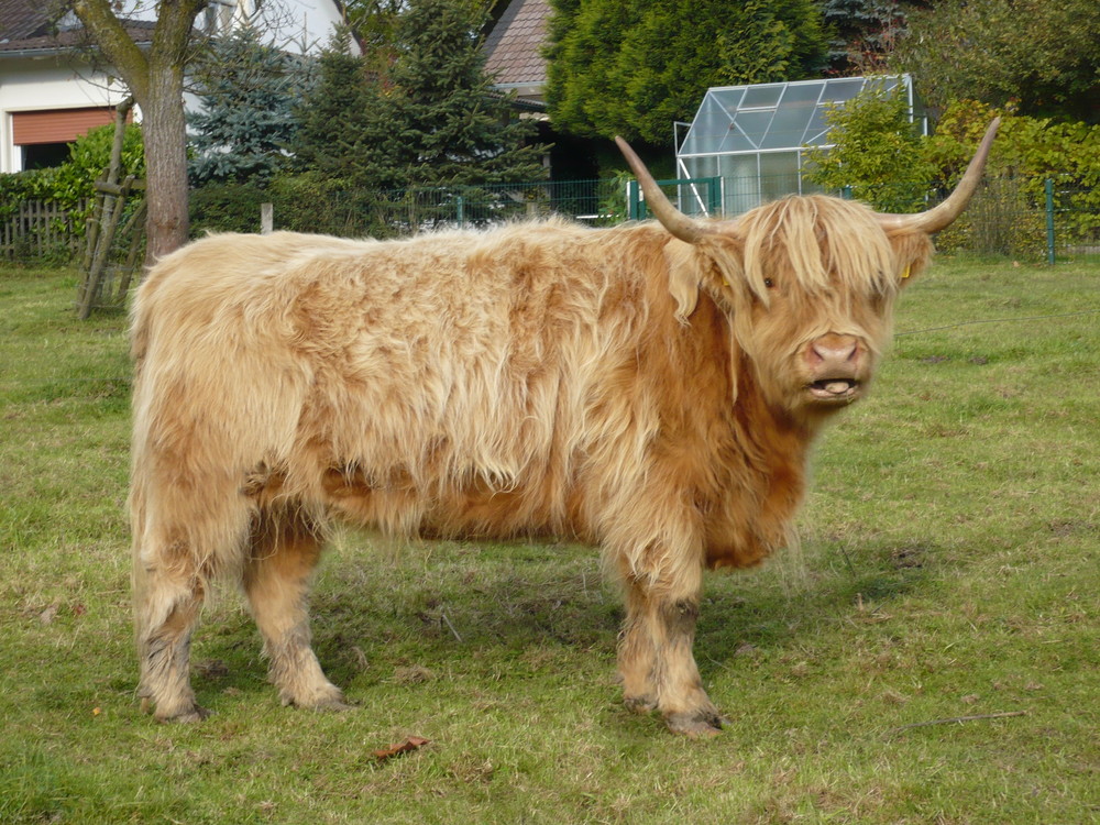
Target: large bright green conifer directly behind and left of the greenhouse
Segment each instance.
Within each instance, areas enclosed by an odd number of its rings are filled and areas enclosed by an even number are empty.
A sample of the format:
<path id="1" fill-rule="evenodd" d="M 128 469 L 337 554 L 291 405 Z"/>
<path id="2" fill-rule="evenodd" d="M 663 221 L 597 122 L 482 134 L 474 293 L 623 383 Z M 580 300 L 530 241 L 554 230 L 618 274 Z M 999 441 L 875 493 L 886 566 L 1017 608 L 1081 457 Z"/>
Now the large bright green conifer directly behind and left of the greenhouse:
<path id="1" fill-rule="evenodd" d="M 711 86 L 793 80 L 824 64 L 813 0 L 551 0 L 547 101 L 585 136 L 666 143 Z"/>

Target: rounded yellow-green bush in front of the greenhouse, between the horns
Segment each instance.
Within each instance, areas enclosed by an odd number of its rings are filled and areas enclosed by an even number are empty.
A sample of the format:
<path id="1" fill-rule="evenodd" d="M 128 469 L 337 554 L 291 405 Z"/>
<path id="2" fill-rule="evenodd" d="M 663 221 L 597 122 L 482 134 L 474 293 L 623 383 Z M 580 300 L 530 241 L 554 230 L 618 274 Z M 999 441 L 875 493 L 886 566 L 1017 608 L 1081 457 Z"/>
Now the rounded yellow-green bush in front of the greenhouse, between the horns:
<path id="1" fill-rule="evenodd" d="M 905 87 L 871 85 L 825 114 L 832 148 L 806 151 L 806 177 L 826 189 L 850 187 L 853 197 L 883 212 L 923 205 L 935 169 L 910 120 Z"/>

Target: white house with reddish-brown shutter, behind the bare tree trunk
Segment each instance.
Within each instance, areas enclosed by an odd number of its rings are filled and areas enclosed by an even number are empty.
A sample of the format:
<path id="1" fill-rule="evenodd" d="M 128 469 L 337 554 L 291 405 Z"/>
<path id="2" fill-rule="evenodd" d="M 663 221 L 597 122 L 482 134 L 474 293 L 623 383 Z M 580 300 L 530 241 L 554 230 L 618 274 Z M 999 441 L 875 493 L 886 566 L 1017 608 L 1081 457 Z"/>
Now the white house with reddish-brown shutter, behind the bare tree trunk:
<path id="1" fill-rule="evenodd" d="M 58 20 L 41 0 L 0 0 L 0 173 L 53 166 L 67 144 L 114 120 L 127 90 L 112 76 L 75 15 Z M 154 12 L 132 8 L 125 28 L 151 45 Z M 339 0 L 212 0 L 196 20 L 206 33 L 250 20 L 265 38 L 299 53 L 323 46 L 343 20 Z M 139 114 L 140 117 L 140 114 Z"/>

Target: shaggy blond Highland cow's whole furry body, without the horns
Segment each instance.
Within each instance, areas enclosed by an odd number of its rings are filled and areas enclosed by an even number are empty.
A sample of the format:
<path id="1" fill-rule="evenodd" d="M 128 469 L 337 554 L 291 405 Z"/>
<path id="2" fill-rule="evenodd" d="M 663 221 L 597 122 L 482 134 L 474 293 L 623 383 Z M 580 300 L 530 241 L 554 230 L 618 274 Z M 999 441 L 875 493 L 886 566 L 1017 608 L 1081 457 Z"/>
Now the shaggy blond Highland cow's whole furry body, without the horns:
<path id="1" fill-rule="evenodd" d="M 810 197 L 697 245 L 548 221 L 216 235 L 167 256 L 133 306 L 142 695 L 160 718 L 204 714 L 187 648 L 226 575 L 284 702 L 342 706 L 305 608 L 340 517 L 601 546 L 626 594 L 627 703 L 717 728 L 691 652 L 704 566 L 784 543 L 811 440 L 843 406 L 807 386 L 842 362 L 866 386 L 928 249 Z"/>

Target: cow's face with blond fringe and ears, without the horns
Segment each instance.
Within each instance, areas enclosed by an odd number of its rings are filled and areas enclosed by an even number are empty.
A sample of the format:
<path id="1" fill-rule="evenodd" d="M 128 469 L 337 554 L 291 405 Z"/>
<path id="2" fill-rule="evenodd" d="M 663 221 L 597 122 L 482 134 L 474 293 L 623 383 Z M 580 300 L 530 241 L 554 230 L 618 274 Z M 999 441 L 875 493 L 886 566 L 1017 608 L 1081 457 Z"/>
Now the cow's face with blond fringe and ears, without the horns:
<path id="1" fill-rule="evenodd" d="M 761 207 L 696 249 L 715 261 L 722 283 L 701 285 L 726 299 L 765 396 L 815 418 L 867 393 L 898 293 L 927 264 L 931 243 L 920 231 L 888 234 L 859 204 L 809 197 Z"/>

